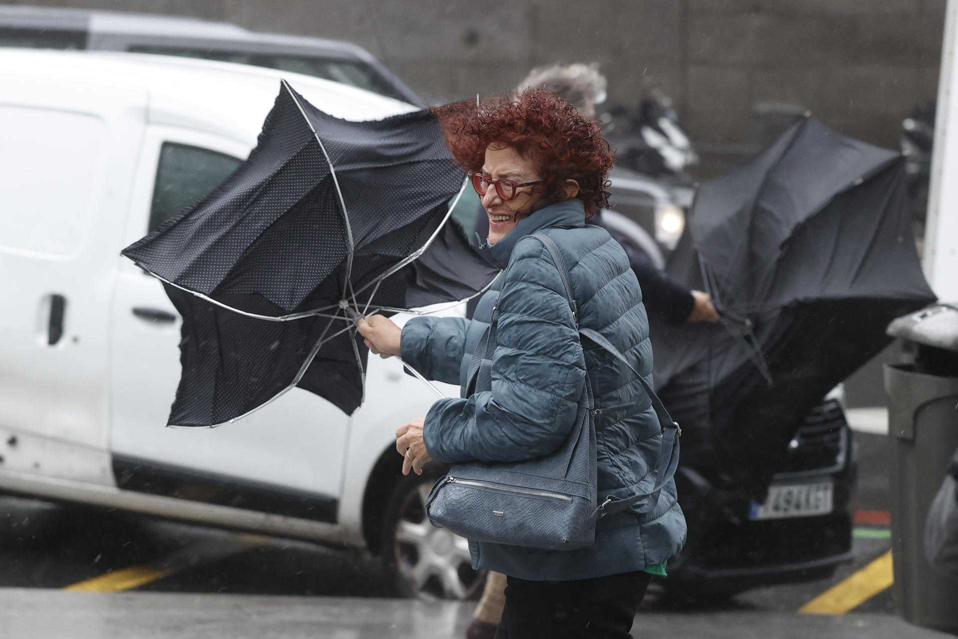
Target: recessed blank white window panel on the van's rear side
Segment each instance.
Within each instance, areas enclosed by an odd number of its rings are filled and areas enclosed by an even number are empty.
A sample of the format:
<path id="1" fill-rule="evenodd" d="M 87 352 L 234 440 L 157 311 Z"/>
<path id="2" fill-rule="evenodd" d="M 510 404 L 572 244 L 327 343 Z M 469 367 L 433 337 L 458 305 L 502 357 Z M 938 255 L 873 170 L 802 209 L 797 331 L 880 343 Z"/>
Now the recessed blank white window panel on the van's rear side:
<path id="1" fill-rule="evenodd" d="M 0 123 L 0 251 L 75 255 L 103 190 L 103 120 L 0 104 Z"/>

